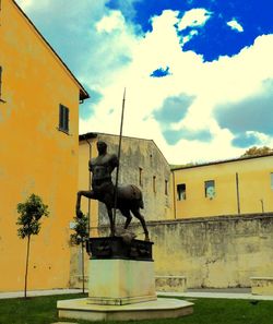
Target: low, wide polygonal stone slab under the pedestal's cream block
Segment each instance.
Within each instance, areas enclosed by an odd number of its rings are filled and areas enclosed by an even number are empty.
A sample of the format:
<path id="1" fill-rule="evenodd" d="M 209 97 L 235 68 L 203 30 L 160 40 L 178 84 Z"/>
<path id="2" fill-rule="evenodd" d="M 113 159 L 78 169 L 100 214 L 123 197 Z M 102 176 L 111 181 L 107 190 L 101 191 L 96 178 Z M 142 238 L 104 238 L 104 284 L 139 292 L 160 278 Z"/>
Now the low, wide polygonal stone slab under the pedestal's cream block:
<path id="1" fill-rule="evenodd" d="M 170 298 L 126 305 L 90 304 L 88 298 L 60 300 L 57 303 L 59 317 L 87 321 L 131 321 L 176 319 L 191 314 L 193 304 Z"/>

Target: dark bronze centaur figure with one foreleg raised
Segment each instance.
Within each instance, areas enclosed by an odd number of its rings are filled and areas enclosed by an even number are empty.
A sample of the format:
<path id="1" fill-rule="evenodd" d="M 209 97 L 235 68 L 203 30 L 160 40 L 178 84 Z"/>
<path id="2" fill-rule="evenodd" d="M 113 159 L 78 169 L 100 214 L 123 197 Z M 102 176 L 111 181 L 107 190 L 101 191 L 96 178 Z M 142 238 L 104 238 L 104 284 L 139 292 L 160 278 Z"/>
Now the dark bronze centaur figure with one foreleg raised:
<path id="1" fill-rule="evenodd" d="M 128 228 L 132 220 L 132 213 L 140 220 L 145 233 L 145 240 L 149 241 L 145 219 L 140 213 L 140 208 L 143 208 L 142 192 L 133 184 L 120 185 L 117 187 L 117 196 L 115 196 L 116 189 L 111 181 L 111 172 L 119 165 L 118 157 L 116 154 L 108 154 L 107 144 L 102 141 L 97 142 L 97 151 L 98 156 L 88 163 L 88 168 L 92 172 L 92 190 L 78 192 L 76 216 L 81 218 L 83 215 L 81 212 L 82 195 L 90 200 L 98 200 L 107 208 L 110 221 L 110 236 L 115 236 L 112 208 L 118 208 L 127 218 L 124 229 Z"/>

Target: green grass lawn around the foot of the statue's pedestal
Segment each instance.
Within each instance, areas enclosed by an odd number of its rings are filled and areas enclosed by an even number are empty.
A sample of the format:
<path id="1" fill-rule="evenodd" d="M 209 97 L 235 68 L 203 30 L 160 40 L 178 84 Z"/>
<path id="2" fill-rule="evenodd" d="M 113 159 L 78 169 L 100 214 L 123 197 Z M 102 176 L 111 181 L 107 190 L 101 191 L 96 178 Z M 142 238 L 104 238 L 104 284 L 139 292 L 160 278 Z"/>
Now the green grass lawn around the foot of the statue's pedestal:
<path id="1" fill-rule="evenodd" d="M 61 295 L 33 297 L 26 300 L 0 300 L 0 324 L 51 324 L 58 321 L 86 324 L 91 322 L 59 320 L 57 300 L 82 298 L 83 295 Z M 177 320 L 141 321 L 141 324 L 271 324 L 273 323 L 273 301 L 230 299 L 194 299 L 193 314 Z M 94 322 L 93 322 L 94 323 Z M 115 322 L 109 322 L 115 324 Z M 116 322 L 117 323 L 117 322 Z M 120 322 L 119 322 L 120 323 Z M 122 322 L 126 323 L 126 322 Z M 132 322 L 130 322 L 132 323 Z M 135 321 L 138 323 L 138 321 Z"/>

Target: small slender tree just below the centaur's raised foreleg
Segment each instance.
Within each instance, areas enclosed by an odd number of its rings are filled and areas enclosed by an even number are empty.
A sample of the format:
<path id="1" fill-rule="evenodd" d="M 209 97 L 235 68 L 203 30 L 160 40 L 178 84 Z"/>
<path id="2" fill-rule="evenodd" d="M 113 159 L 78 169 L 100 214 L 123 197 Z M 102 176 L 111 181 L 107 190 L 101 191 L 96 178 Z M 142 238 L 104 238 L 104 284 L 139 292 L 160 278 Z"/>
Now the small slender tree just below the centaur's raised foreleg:
<path id="1" fill-rule="evenodd" d="M 72 245 L 80 245 L 82 248 L 82 280 L 83 280 L 83 293 L 84 293 L 84 247 L 88 240 L 88 217 L 83 215 L 82 218 L 74 217 L 75 226 L 73 228 L 74 233 L 70 236 Z"/>

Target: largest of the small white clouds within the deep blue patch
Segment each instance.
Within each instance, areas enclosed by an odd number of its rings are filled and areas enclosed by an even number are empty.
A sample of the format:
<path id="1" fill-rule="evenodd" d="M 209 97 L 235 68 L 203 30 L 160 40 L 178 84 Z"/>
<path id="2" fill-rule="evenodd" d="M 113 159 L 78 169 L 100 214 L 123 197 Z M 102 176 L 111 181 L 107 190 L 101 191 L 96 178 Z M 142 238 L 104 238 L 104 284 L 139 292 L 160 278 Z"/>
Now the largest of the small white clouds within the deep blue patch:
<path id="1" fill-rule="evenodd" d="M 178 24 L 178 29 L 182 31 L 187 27 L 202 27 L 211 15 L 212 13 L 203 8 L 186 11 Z"/>

